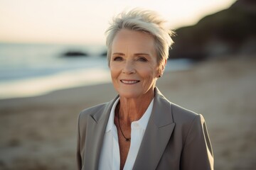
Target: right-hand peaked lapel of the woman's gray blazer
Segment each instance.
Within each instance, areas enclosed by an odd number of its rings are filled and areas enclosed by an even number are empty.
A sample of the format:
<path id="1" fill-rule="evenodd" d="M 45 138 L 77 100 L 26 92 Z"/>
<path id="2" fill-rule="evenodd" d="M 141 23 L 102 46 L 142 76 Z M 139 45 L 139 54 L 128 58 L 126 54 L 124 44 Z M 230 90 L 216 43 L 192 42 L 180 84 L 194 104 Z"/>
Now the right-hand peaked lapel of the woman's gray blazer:
<path id="1" fill-rule="evenodd" d="M 156 88 L 154 106 L 133 169 L 156 169 L 175 123 L 171 103 Z"/>

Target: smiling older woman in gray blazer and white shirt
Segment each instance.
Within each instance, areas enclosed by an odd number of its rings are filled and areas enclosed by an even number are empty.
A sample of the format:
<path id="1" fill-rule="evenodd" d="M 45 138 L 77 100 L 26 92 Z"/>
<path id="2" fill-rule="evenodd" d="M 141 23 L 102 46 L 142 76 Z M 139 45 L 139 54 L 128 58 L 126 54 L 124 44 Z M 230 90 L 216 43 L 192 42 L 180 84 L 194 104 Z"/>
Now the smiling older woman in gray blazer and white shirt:
<path id="1" fill-rule="evenodd" d="M 202 115 L 156 88 L 172 43 L 153 11 L 134 9 L 107 30 L 107 60 L 118 96 L 78 118 L 78 169 L 213 169 Z"/>

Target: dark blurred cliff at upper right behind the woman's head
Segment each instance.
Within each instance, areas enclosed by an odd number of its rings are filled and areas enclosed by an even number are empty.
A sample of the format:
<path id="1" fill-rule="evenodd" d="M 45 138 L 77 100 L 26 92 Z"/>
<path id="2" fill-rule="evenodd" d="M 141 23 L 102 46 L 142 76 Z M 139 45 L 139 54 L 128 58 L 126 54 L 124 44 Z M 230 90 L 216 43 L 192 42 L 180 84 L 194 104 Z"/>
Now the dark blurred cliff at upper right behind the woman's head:
<path id="1" fill-rule="evenodd" d="M 195 26 L 175 30 L 169 57 L 202 60 L 223 55 L 256 54 L 256 1 L 238 0 Z"/>

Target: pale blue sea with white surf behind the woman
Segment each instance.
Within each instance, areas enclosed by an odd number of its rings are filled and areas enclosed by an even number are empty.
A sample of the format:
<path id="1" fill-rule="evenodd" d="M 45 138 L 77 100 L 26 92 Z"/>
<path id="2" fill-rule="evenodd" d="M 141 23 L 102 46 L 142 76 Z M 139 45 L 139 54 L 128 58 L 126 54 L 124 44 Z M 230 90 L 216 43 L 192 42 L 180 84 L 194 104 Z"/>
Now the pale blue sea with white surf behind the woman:
<path id="1" fill-rule="evenodd" d="M 64 52 L 87 57 L 61 57 Z M 75 86 L 110 82 L 104 45 L 0 43 L 0 98 L 47 94 Z M 166 71 L 188 69 L 188 60 L 171 60 Z"/>

